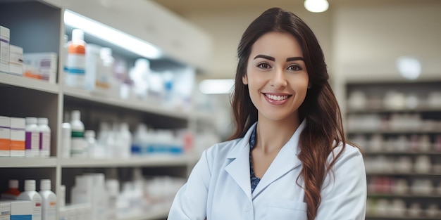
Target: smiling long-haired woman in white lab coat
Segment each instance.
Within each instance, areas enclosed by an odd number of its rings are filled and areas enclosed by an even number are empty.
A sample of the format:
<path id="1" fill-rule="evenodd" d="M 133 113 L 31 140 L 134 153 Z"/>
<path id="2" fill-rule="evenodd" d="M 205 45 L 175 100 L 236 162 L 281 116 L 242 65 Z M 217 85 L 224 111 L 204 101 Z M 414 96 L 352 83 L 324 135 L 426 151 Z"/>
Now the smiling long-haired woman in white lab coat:
<path id="1" fill-rule="evenodd" d="M 204 151 L 168 219 L 364 219 L 363 157 L 346 143 L 313 32 L 271 8 L 237 53 L 236 131 Z"/>

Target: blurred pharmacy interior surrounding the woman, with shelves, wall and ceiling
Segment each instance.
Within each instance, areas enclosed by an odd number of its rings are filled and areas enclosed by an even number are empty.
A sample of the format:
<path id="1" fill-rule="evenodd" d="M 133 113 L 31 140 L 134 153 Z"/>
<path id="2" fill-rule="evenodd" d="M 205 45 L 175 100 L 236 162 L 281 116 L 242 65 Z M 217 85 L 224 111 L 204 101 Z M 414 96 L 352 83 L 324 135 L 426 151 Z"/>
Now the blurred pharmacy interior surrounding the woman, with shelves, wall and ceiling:
<path id="1" fill-rule="evenodd" d="M 240 2 L 0 0 L 1 213 L 36 216 L 37 200 L 39 219 L 166 219 L 228 138 L 237 42 L 275 4 Z M 364 150 L 366 219 L 440 219 L 441 3 L 275 2 L 321 42 Z"/>

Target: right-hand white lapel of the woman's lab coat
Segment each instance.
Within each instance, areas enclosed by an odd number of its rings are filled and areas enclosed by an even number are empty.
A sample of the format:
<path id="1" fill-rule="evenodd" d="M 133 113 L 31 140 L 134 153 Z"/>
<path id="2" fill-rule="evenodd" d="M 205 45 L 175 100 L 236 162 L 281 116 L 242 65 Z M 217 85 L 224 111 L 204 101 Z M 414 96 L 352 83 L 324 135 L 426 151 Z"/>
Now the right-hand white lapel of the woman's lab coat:
<path id="1" fill-rule="evenodd" d="M 256 189 L 253 192 L 253 199 L 261 193 L 266 187 L 271 183 L 280 179 L 288 172 L 292 171 L 296 167 L 299 167 L 302 162 L 300 162 L 297 154 L 299 153 L 299 136 L 302 133 L 304 127 L 306 126 L 306 120 L 299 125 L 297 130 L 294 132 L 290 141 L 288 141 L 282 149 L 280 149 L 278 155 L 274 158 L 270 167 L 263 174 L 261 181 L 257 184 Z M 293 185 L 296 183 L 292 183 Z M 283 189 L 282 189 L 283 190 Z"/>

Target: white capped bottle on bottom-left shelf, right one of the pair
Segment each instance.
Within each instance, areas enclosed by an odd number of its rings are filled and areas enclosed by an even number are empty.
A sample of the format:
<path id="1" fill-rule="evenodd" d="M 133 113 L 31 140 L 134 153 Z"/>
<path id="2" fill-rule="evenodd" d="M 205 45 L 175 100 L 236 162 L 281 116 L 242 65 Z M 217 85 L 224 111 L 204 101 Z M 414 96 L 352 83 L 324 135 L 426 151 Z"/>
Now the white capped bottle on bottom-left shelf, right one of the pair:
<path id="1" fill-rule="evenodd" d="M 51 191 L 51 180 L 40 181 L 39 194 L 42 196 L 42 220 L 56 220 L 57 199 Z"/>

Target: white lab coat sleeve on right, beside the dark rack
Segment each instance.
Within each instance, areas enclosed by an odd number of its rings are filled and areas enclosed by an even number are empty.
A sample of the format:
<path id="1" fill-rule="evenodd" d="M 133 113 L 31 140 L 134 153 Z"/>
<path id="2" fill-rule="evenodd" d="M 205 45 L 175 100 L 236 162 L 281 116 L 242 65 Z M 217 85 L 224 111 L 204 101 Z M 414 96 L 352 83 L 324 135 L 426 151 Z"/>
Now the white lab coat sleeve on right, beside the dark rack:
<path id="1" fill-rule="evenodd" d="M 366 215 L 366 171 L 357 148 L 346 145 L 321 190 L 316 220 L 364 220 Z"/>

